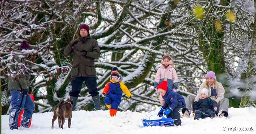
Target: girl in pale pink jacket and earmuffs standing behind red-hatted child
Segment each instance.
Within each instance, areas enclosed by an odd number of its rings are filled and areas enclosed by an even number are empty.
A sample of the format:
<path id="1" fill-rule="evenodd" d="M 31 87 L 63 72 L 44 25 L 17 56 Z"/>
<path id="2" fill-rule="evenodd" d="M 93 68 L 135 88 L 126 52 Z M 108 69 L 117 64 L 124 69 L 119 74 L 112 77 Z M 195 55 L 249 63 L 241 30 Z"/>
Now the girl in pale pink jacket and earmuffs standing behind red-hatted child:
<path id="1" fill-rule="evenodd" d="M 167 81 L 167 90 L 176 91 L 178 89 L 178 76 L 174 69 L 174 63 L 170 56 L 165 55 L 161 60 L 161 67 L 156 72 L 154 87 L 159 85 L 162 81 Z M 159 96 L 161 105 L 163 106 L 164 100 L 162 96 Z"/>

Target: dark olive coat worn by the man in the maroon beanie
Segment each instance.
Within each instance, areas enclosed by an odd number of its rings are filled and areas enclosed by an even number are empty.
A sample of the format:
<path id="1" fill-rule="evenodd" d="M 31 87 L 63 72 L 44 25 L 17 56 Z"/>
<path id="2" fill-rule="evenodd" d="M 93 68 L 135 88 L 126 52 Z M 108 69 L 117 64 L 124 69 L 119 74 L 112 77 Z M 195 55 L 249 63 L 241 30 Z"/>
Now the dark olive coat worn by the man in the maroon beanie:
<path id="1" fill-rule="evenodd" d="M 90 36 L 79 36 L 78 39 L 72 40 L 64 49 L 65 55 L 70 55 L 72 52 L 71 79 L 81 76 L 96 77 L 94 61 L 100 57 L 100 47 L 97 41 L 91 39 Z"/>

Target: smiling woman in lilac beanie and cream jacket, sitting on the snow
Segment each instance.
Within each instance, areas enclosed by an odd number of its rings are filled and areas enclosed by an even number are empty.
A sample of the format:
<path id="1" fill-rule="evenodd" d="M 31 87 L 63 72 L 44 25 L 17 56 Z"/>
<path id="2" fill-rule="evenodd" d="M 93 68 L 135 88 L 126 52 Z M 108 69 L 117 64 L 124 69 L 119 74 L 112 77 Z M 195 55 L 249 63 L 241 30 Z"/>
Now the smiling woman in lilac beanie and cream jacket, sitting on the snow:
<path id="1" fill-rule="evenodd" d="M 206 74 L 206 81 L 204 81 L 201 85 L 199 90 L 197 91 L 197 96 L 188 95 L 186 97 L 186 108 L 182 109 L 182 117 L 189 117 L 192 104 L 194 102 L 198 102 L 200 98 L 200 92 L 203 88 L 208 89 L 209 97 L 215 101 L 218 105 L 218 113 L 219 117 L 228 116 L 228 98 L 224 98 L 225 89 L 220 82 L 216 80 L 216 75 L 213 71 L 209 71 Z"/>

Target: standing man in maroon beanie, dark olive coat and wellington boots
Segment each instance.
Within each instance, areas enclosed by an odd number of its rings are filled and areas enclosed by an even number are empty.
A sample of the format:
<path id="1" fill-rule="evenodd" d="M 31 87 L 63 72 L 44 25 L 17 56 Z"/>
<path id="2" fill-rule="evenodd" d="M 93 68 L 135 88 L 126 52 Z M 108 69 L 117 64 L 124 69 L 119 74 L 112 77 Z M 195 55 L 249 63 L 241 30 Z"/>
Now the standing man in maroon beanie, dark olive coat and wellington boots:
<path id="1" fill-rule="evenodd" d="M 91 39 L 89 26 L 79 26 L 78 39 L 72 40 L 64 49 L 65 55 L 73 52 L 73 63 L 71 70 L 72 90 L 69 92 L 70 100 L 73 102 L 72 110 L 76 109 L 77 98 L 85 82 L 89 94 L 93 98 L 96 110 L 100 110 L 100 97 L 96 87 L 96 70 L 94 60 L 100 57 L 100 47 L 95 39 Z"/>

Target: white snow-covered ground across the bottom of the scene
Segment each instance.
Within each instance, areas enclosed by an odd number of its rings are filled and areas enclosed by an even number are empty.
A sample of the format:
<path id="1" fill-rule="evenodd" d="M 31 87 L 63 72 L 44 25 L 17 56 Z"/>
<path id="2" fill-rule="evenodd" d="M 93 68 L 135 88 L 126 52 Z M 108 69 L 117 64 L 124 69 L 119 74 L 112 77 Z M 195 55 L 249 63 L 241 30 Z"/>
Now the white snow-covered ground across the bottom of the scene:
<path id="1" fill-rule="evenodd" d="M 196 121 L 191 118 L 181 119 L 181 126 L 173 127 L 143 127 L 142 119 L 158 113 L 158 110 L 146 112 L 117 112 L 117 116 L 110 117 L 109 111 L 74 111 L 72 113 L 71 128 L 51 129 L 52 112 L 33 114 L 31 128 L 20 127 L 19 130 L 9 129 L 9 116 L 2 115 L 2 134 L 218 134 L 218 133 L 256 133 L 256 108 L 230 108 L 229 118 L 206 118 Z M 151 119 L 158 119 L 152 116 Z M 243 130 L 243 129 L 247 130 Z M 226 130 L 225 130 L 226 129 Z M 231 130 L 233 129 L 233 130 Z M 239 130 L 241 129 L 241 130 Z"/>

